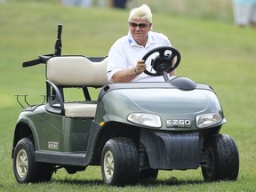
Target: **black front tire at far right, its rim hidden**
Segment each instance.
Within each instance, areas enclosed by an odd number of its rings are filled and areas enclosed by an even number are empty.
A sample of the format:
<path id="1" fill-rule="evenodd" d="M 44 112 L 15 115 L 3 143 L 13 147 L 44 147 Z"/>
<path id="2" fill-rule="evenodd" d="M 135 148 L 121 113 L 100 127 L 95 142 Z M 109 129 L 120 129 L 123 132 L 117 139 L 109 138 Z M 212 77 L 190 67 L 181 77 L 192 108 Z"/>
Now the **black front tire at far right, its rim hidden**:
<path id="1" fill-rule="evenodd" d="M 239 154 L 235 141 L 227 134 L 219 134 L 207 142 L 204 152 L 208 163 L 202 166 L 205 181 L 236 180 Z"/>

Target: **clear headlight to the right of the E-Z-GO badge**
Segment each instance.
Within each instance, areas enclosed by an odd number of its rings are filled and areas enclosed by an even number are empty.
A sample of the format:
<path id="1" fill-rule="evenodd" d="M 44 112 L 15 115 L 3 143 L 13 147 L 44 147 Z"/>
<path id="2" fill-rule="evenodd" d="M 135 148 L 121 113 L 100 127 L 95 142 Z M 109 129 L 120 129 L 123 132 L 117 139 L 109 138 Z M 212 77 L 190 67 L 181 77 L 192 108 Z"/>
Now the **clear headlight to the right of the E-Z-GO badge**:
<path id="1" fill-rule="evenodd" d="M 222 117 L 218 113 L 203 114 L 196 116 L 196 126 L 198 128 L 204 128 L 212 126 L 213 124 L 218 124 L 222 120 Z"/>

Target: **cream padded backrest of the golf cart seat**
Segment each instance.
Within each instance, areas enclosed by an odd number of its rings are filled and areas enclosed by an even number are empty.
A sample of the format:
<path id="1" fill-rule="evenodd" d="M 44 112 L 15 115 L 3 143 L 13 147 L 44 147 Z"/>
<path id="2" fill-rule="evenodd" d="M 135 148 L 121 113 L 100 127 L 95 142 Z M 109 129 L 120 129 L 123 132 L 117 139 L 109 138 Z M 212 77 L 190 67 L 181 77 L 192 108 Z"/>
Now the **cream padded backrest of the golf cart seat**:
<path id="1" fill-rule="evenodd" d="M 108 84 L 108 57 L 92 62 L 84 56 L 52 57 L 46 64 L 46 79 L 56 85 L 103 86 Z"/>

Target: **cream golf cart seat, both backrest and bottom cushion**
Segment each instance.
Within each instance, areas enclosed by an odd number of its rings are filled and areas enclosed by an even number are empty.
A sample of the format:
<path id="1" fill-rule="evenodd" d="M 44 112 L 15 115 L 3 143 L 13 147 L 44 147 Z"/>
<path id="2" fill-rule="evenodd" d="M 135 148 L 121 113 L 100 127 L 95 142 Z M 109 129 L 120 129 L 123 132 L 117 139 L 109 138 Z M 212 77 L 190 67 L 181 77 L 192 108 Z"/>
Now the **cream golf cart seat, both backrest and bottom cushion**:
<path id="1" fill-rule="evenodd" d="M 52 100 L 51 90 L 47 89 L 48 109 L 50 105 L 56 111 L 56 106 L 59 106 L 60 114 L 67 117 L 94 117 L 97 100 L 65 102 L 63 90 L 67 87 L 101 87 L 108 84 L 107 64 L 108 58 L 99 62 L 92 62 L 84 56 L 50 58 L 46 66 L 46 82 L 59 96 L 57 102 Z"/>

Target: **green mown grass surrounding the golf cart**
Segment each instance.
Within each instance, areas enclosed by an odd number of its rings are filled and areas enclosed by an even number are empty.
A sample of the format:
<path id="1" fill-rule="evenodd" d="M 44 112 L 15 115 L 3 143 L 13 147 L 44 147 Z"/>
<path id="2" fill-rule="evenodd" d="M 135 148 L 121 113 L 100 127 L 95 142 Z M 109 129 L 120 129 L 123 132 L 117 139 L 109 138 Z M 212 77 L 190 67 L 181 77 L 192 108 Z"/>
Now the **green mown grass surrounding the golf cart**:
<path id="1" fill-rule="evenodd" d="M 53 174 L 50 183 L 18 184 L 12 172 L 11 150 L 13 130 L 21 108 L 13 95 L 28 93 L 28 101 L 33 103 L 41 102 L 39 95 L 45 92 L 44 65 L 21 68 L 21 63 L 53 52 L 58 23 L 63 24 L 63 54 L 106 56 L 116 38 L 127 33 L 125 21 L 129 12 L 97 7 L 63 7 L 56 1 L 8 0 L 0 4 L 0 191 L 255 190 L 255 30 L 236 28 L 230 19 L 219 19 L 217 11 L 202 19 L 204 14 L 199 10 L 198 15 L 188 10 L 192 1 L 187 1 L 186 5 L 184 0 L 179 2 L 180 11 L 176 9 L 177 12 L 171 14 L 164 4 L 164 11 L 160 12 L 161 4 L 148 1 L 156 11 L 154 30 L 169 36 L 172 45 L 180 50 L 179 76 L 210 84 L 218 93 L 228 119 L 221 132 L 236 140 L 240 153 L 238 180 L 206 183 L 200 169 L 161 171 L 156 181 L 115 188 L 103 185 L 99 167 L 88 167 L 85 172 L 74 175 L 60 170 Z M 220 4 L 220 1 L 215 1 L 215 4 Z M 228 12 L 230 10 L 229 6 Z"/>

